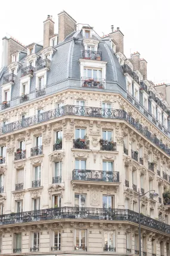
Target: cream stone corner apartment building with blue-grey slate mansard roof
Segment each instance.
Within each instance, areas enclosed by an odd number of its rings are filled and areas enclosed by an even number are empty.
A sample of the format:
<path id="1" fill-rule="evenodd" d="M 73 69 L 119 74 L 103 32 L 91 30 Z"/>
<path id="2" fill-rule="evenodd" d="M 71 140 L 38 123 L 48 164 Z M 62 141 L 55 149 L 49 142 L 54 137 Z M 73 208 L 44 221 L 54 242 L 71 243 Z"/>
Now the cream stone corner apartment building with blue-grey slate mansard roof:
<path id="1" fill-rule="evenodd" d="M 138 255 L 154 190 L 141 251 L 169 256 L 169 106 L 146 60 L 65 11 L 43 46 L 2 41 L 1 254 Z"/>

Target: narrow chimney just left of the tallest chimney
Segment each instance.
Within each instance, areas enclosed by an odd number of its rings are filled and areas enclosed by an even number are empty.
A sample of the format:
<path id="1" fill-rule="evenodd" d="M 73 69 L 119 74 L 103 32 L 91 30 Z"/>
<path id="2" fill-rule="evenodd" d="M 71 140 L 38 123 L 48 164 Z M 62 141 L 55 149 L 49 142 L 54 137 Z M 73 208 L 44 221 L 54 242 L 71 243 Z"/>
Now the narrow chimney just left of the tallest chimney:
<path id="1" fill-rule="evenodd" d="M 44 22 L 44 48 L 50 46 L 52 35 L 54 35 L 54 22 L 52 21 L 52 16 L 48 15 L 47 20 Z"/>

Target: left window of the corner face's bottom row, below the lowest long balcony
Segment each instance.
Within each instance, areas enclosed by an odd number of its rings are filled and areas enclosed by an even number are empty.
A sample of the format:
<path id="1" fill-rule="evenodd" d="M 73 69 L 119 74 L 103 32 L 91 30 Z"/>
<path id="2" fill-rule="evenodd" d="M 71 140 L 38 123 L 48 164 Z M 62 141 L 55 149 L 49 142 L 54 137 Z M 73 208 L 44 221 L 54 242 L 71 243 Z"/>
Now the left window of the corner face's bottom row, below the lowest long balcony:
<path id="1" fill-rule="evenodd" d="M 75 250 L 86 251 L 86 230 L 75 230 Z"/>

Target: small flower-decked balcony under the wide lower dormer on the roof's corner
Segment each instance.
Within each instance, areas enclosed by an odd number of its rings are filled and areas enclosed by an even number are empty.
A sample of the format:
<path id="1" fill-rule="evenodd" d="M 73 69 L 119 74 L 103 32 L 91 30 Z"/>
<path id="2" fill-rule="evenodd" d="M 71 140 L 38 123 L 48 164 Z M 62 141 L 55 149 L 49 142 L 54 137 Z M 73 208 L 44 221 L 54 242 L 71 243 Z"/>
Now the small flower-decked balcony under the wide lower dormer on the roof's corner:
<path id="1" fill-rule="evenodd" d="M 105 79 L 82 77 L 82 87 L 104 89 Z"/>

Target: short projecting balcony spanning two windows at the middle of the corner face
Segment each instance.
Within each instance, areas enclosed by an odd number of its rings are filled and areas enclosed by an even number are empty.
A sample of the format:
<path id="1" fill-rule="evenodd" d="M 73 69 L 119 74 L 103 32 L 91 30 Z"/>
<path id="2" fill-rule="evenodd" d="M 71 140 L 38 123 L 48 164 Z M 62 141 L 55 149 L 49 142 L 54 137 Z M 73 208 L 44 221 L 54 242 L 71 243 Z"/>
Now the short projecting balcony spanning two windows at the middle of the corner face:
<path id="1" fill-rule="evenodd" d="M 95 182 L 119 182 L 119 171 L 73 170 L 73 180 L 86 180 Z"/>

